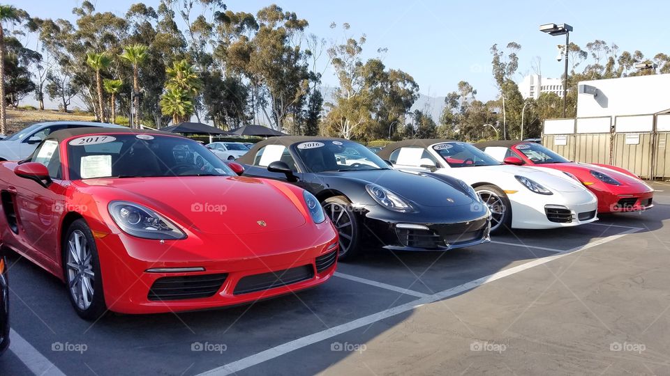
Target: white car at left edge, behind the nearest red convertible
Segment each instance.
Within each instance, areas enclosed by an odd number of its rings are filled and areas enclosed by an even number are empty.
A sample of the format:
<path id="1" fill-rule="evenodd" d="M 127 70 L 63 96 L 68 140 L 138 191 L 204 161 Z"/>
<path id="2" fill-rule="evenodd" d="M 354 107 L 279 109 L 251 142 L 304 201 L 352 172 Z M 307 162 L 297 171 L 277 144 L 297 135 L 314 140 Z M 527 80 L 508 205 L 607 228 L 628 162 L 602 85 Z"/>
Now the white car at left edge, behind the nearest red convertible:
<path id="1" fill-rule="evenodd" d="M 50 121 L 35 123 L 0 140 L 0 161 L 20 161 L 29 157 L 35 148 L 52 132 L 81 127 L 124 128 L 121 125 L 84 121 Z"/>

